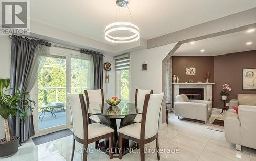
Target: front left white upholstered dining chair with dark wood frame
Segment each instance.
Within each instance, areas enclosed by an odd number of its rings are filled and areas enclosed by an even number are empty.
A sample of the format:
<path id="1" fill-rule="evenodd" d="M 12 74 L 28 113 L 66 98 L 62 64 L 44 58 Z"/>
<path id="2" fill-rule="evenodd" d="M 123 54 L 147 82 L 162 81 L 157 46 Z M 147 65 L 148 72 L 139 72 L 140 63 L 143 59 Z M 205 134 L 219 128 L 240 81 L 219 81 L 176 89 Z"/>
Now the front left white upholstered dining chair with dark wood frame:
<path id="1" fill-rule="evenodd" d="M 113 132 L 114 130 L 100 123 L 88 124 L 86 104 L 82 94 L 67 93 L 73 121 L 73 149 L 71 160 L 74 158 L 75 143 L 83 144 L 83 161 L 87 160 L 88 144 L 100 139 L 109 138 L 110 159 L 113 158 Z"/>

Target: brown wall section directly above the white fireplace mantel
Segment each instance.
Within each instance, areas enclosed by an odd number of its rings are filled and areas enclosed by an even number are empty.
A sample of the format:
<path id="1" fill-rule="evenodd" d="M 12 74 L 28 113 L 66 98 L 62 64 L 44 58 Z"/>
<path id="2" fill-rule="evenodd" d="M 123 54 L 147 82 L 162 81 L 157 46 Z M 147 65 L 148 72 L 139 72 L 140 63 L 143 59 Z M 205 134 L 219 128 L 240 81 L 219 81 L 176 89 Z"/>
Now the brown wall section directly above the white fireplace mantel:
<path id="1" fill-rule="evenodd" d="M 201 56 L 173 56 L 173 75 L 179 76 L 179 82 L 205 82 L 205 71 L 210 72 L 209 82 L 214 82 L 214 57 Z M 195 67 L 196 75 L 186 75 L 187 67 Z"/>

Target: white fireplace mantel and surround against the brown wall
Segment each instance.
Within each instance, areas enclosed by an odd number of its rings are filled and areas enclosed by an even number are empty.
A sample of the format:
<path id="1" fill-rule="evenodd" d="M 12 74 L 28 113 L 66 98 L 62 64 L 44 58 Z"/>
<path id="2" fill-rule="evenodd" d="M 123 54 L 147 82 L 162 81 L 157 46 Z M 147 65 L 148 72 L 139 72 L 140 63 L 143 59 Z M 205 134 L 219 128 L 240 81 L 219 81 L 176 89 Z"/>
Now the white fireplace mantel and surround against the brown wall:
<path id="1" fill-rule="evenodd" d="M 195 82 L 195 83 L 173 83 L 174 85 L 174 102 L 176 102 L 176 96 L 180 93 L 180 88 L 203 88 L 204 100 L 212 101 L 212 86 L 215 83 L 210 82 Z"/>

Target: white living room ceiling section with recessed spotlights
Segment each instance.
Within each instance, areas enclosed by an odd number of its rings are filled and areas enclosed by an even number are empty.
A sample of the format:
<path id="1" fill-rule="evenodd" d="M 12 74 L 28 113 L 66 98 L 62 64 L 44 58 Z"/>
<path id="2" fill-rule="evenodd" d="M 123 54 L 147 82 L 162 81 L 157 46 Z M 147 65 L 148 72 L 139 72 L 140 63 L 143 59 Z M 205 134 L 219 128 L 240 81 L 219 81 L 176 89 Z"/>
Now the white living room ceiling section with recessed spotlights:
<path id="1" fill-rule="evenodd" d="M 217 56 L 227 53 L 235 53 L 256 50 L 256 26 L 253 32 L 248 30 L 221 35 L 208 39 L 195 41 L 194 44 L 182 44 L 174 53 L 175 56 Z M 252 44 L 247 45 L 247 42 Z M 204 50 L 204 52 L 201 52 Z"/>

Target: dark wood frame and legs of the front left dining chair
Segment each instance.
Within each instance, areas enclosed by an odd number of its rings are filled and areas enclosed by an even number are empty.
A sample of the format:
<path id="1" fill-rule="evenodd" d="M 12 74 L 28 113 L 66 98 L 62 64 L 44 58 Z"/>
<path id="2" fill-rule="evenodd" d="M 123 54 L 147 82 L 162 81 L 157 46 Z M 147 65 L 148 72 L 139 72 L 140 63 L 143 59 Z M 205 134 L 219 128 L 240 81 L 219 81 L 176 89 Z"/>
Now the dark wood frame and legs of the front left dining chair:
<path id="1" fill-rule="evenodd" d="M 84 97 L 82 94 L 79 94 L 79 99 L 80 99 L 80 102 L 81 102 L 81 107 L 82 107 L 82 118 L 83 118 L 83 138 L 84 139 L 81 139 L 79 137 L 77 137 L 74 133 L 73 133 L 73 149 L 72 149 L 72 156 L 71 156 L 71 160 L 74 159 L 74 152 L 75 152 L 75 143 L 76 141 L 83 144 L 83 161 L 86 161 L 87 160 L 87 150 L 88 150 L 88 144 L 90 143 L 93 143 L 95 141 L 98 141 L 100 139 L 107 139 L 109 138 L 110 139 L 110 142 L 109 142 L 109 150 L 110 150 L 110 159 L 113 158 L 113 132 L 111 133 L 108 133 L 106 135 L 103 135 L 103 136 L 99 136 L 99 137 L 96 137 L 96 138 L 91 138 L 91 139 L 88 139 L 88 115 L 87 115 L 87 110 L 86 110 L 86 103 L 84 102 Z M 84 151 L 86 150 L 86 151 Z"/>

